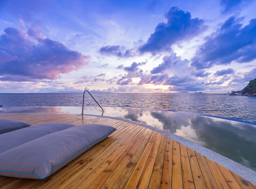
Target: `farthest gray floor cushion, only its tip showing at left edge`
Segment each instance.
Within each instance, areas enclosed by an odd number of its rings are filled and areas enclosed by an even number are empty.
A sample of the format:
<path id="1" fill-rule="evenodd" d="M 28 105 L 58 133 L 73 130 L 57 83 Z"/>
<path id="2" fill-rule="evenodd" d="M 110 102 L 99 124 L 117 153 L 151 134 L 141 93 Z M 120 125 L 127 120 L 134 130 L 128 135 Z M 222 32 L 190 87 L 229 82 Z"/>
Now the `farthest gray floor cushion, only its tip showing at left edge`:
<path id="1" fill-rule="evenodd" d="M 0 119 L 0 134 L 31 126 L 25 122 L 18 122 L 10 119 Z"/>

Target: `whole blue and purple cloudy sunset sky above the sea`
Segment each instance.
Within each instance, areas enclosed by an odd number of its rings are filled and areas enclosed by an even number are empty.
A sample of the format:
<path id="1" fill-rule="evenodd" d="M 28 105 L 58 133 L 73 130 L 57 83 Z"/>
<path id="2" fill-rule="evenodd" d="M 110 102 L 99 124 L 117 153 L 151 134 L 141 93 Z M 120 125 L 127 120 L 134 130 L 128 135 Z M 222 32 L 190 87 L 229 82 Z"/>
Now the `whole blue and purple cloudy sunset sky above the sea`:
<path id="1" fill-rule="evenodd" d="M 0 93 L 227 93 L 256 78 L 255 0 L 0 0 Z"/>

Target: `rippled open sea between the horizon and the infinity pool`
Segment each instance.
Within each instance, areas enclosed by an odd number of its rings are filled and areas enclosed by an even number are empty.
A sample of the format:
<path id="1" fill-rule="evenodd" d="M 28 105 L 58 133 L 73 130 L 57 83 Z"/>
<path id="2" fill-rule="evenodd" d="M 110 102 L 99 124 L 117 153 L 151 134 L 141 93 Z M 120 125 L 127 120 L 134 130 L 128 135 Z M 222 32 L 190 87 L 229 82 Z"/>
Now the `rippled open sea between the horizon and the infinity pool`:
<path id="1" fill-rule="evenodd" d="M 92 94 L 102 106 L 167 109 L 256 122 L 256 97 L 224 94 Z M 0 105 L 80 106 L 82 94 L 0 94 Z M 86 93 L 85 105 L 97 105 Z"/>

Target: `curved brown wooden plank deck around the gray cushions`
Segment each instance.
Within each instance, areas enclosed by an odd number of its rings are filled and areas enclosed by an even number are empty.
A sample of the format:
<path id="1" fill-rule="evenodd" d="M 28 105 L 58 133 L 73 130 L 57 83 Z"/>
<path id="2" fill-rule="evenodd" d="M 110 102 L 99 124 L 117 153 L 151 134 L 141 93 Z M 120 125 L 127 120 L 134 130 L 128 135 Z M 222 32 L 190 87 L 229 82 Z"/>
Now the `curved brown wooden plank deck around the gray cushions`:
<path id="1" fill-rule="evenodd" d="M 171 138 L 135 124 L 70 114 L 0 114 L 33 125 L 106 124 L 117 130 L 44 180 L 0 176 L 0 188 L 254 188 Z"/>

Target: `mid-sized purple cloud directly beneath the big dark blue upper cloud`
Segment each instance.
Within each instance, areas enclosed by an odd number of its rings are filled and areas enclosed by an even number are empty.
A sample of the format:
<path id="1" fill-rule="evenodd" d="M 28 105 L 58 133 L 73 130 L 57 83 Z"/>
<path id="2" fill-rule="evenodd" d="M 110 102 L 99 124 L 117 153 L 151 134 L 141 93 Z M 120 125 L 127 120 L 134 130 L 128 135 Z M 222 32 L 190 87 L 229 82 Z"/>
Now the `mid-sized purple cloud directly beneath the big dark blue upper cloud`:
<path id="1" fill-rule="evenodd" d="M 180 62 L 182 62 L 182 60 L 180 59 L 180 56 L 176 56 L 175 52 L 172 52 L 171 55 L 169 56 L 164 56 L 163 58 L 163 63 L 161 63 L 160 65 L 158 65 L 157 67 L 154 67 L 150 73 L 152 74 L 159 74 L 159 73 L 164 73 L 164 71 L 166 69 L 171 69 L 171 67 L 179 64 Z"/>

